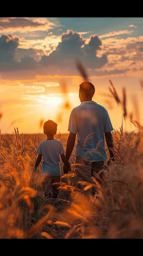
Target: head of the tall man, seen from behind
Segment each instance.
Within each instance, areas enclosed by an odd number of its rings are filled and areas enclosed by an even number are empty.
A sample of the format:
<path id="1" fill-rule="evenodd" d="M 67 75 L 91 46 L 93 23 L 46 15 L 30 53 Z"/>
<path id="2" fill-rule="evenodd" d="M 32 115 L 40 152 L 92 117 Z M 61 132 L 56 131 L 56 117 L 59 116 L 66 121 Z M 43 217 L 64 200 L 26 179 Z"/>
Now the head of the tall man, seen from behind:
<path id="1" fill-rule="evenodd" d="M 92 83 L 85 81 L 79 85 L 79 99 L 80 101 L 91 101 L 95 94 L 95 87 Z"/>

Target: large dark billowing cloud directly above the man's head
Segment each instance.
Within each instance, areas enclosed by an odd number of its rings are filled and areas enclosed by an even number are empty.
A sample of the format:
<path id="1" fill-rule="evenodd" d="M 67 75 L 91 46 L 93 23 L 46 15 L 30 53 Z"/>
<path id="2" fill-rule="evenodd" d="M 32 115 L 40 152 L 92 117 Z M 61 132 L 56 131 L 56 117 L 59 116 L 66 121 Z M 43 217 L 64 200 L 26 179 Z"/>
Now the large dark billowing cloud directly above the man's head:
<path id="1" fill-rule="evenodd" d="M 41 63 L 44 67 L 58 67 L 59 70 L 75 69 L 77 58 L 86 63 L 87 68 L 96 69 L 107 63 L 106 54 L 97 57 L 97 50 L 100 51 L 101 40 L 97 35 L 91 36 L 88 44 L 77 32 L 68 30 L 62 34 L 62 41 L 55 51 L 49 56 L 42 56 Z M 77 57 L 78 56 L 78 57 Z"/>

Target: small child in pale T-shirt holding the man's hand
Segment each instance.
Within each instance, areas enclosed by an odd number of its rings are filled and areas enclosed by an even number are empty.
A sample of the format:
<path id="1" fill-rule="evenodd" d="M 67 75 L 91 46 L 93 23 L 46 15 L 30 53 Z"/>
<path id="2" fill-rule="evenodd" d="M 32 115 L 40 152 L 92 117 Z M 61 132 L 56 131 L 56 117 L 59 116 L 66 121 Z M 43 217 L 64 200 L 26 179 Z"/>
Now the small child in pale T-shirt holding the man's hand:
<path id="1" fill-rule="evenodd" d="M 62 162 L 66 165 L 67 172 L 71 171 L 70 163 L 65 157 L 65 150 L 62 144 L 62 141 L 54 139 L 54 135 L 57 133 L 57 124 L 48 120 L 44 123 L 43 126 L 44 134 L 47 136 L 47 139 L 41 141 L 36 153 L 38 156 L 35 161 L 35 171 L 38 165 L 42 162 L 42 176 L 43 176 L 43 190 L 45 198 L 57 198 L 59 194 L 59 184 L 61 182 L 61 168 L 59 165 L 61 156 Z M 59 184 L 53 184 L 53 183 Z M 51 195 L 53 192 L 53 196 Z"/>

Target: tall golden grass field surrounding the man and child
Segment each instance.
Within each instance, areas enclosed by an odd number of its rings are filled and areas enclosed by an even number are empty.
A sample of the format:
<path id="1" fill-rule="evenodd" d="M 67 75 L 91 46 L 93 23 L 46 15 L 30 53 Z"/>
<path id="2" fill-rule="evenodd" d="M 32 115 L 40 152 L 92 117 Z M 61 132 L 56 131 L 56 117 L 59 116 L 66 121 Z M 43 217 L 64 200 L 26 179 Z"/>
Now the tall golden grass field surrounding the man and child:
<path id="1" fill-rule="evenodd" d="M 102 186 L 94 179 L 95 198 L 77 188 L 74 148 L 57 199 L 43 197 L 41 165 L 33 173 L 45 135 L 0 134 L 0 238 L 143 238 L 143 130 L 112 134 L 116 162 L 105 162 Z M 65 148 L 67 137 L 56 135 Z"/>

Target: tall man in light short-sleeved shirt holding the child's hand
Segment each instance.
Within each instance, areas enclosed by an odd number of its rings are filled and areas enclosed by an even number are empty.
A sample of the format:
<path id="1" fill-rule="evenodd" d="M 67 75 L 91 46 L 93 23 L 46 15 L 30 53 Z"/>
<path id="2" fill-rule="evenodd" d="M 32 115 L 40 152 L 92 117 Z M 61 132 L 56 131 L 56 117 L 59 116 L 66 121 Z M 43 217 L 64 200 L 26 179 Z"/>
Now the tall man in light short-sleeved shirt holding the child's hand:
<path id="1" fill-rule="evenodd" d="M 95 87 L 86 81 L 79 85 L 79 99 L 81 104 L 71 111 L 68 131 L 66 158 L 69 160 L 75 145 L 77 135 L 77 145 L 75 150 L 75 173 L 79 189 L 84 191 L 85 182 L 93 184 L 92 177 L 99 177 L 98 182 L 102 182 L 102 171 L 104 161 L 107 159 L 105 151 L 105 139 L 109 148 L 110 158 L 114 154 L 113 130 L 110 117 L 106 108 L 92 101 L 95 94 Z M 65 168 L 65 166 L 64 166 Z M 95 178 L 96 178 L 95 177 Z M 83 184 L 82 184 L 83 182 Z M 90 188 L 85 193 L 95 195 L 94 188 Z"/>

